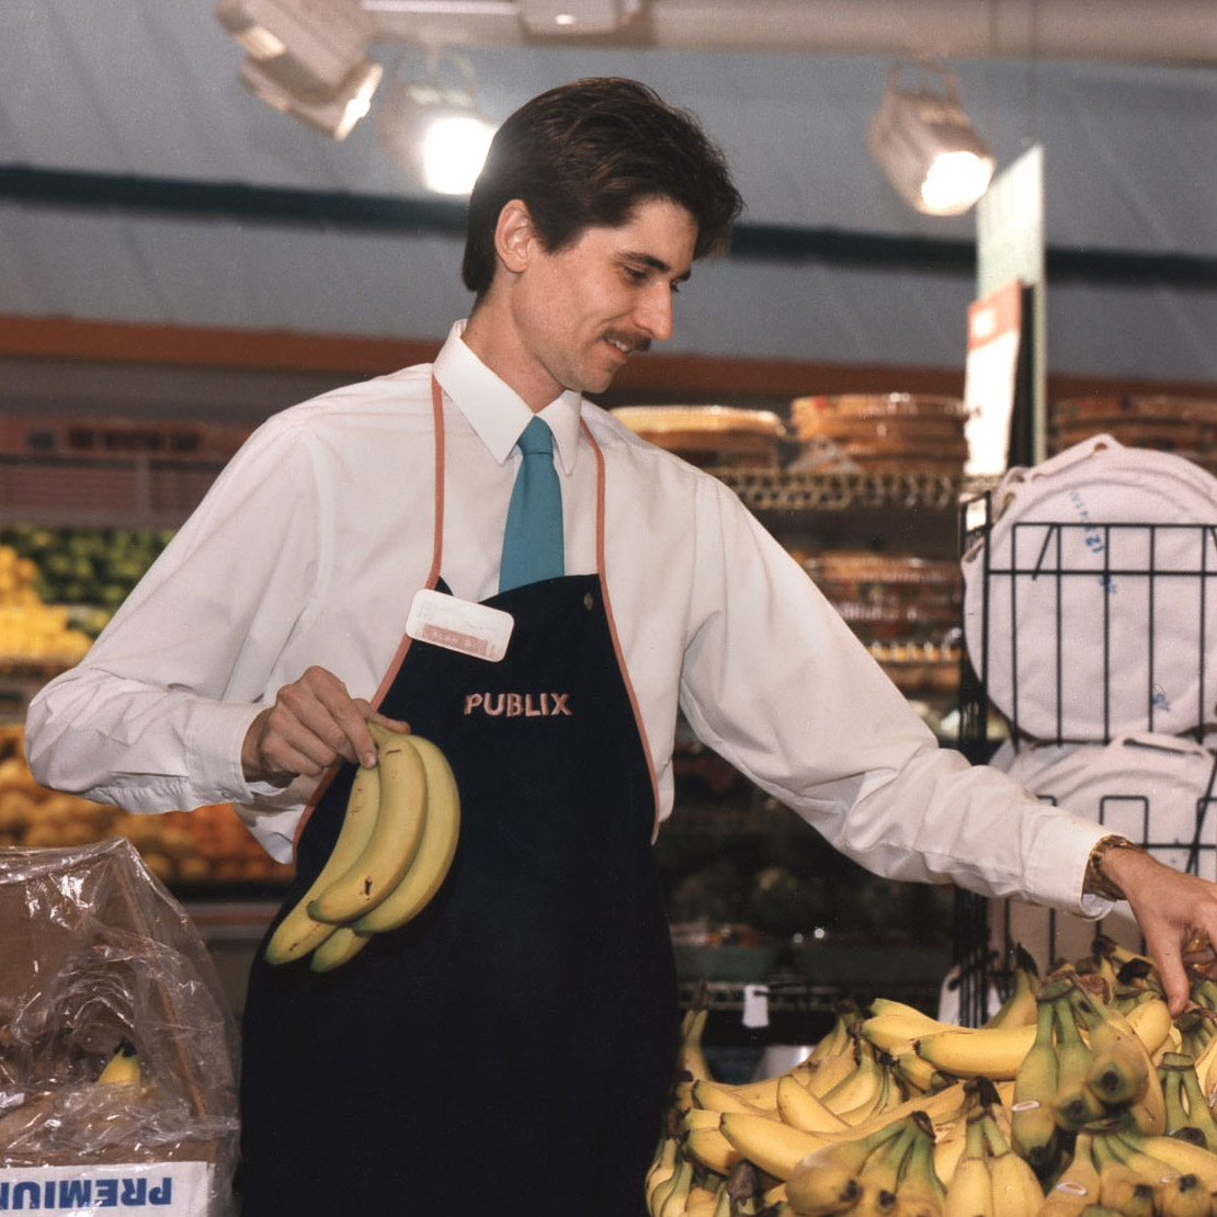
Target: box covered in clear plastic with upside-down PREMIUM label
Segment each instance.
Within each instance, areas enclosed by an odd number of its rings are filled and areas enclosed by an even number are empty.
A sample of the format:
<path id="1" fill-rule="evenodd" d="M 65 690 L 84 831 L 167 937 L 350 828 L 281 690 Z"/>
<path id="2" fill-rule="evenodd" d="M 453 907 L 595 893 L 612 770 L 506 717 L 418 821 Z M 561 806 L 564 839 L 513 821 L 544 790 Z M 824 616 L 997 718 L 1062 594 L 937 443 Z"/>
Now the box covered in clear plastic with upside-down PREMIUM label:
<path id="1" fill-rule="evenodd" d="M 236 1025 L 130 842 L 0 849 L 0 1211 L 235 1215 Z"/>

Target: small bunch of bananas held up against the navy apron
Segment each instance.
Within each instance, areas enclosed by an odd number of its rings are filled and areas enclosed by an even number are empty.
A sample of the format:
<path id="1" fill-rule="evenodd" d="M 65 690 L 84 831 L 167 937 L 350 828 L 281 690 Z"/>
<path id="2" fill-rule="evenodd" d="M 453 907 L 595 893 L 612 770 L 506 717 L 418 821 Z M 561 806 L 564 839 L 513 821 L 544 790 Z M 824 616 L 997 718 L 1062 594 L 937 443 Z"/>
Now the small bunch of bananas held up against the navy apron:
<path id="1" fill-rule="evenodd" d="M 330 857 L 267 943 L 270 964 L 308 955 L 332 971 L 417 916 L 452 867 L 460 798 L 448 759 L 421 736 L 368 729 L 377 762 L 355 773 Z"/>

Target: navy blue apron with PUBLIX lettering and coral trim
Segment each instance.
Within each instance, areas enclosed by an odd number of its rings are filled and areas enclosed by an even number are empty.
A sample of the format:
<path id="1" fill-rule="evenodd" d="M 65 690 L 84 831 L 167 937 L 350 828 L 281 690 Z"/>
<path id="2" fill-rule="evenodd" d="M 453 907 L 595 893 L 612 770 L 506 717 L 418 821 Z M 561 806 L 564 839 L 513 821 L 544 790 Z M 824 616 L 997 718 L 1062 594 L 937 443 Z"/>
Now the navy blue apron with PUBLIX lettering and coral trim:
<path id="1" fill-rule="evenodd" d="M 436 417 L 442 469 L 438 388 Z M 456 858 L 415 921 L 333 972 L 256 960 L 245 1217 L 644 1212 L 677 987 L 655 787 L 602 588 L 568 576 L 488 600 L 515 619 L 498 663 L 405 645 L 380 710 L 447 755 Z M 309 815 L 280 916 L 329 856 L 353 774 Z"/>

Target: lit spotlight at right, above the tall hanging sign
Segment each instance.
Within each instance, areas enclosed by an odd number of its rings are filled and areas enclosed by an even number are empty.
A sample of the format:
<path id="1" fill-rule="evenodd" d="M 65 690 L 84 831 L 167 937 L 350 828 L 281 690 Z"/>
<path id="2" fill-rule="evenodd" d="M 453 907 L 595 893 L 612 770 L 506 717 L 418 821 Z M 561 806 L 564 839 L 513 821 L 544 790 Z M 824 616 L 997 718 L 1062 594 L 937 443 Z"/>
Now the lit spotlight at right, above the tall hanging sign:
<path id="1" fill-rule="evenodd" d="M 914 88 L 902 75 L 916 67 Z M 936 74 L 941 88 L 927 88 Z M 930 215 L 959 215 L 988 190 L 993 157 L 959 105 L 954 74 L 932 63 L 896 65 L 867 134 L 867 147 L 901 197 Z"/>

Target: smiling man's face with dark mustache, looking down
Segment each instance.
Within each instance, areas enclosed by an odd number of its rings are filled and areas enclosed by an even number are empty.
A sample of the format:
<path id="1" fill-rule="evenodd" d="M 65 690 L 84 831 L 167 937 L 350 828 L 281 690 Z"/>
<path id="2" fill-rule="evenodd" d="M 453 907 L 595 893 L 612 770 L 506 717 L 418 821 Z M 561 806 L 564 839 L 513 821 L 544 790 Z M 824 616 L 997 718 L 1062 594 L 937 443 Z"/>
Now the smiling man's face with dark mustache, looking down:
<path id="1" fill-rule="evenodd" d="M 555 253 L 533 243 L 512 301 L 529 377 L 604 392 L 635 350 L 672 335 L 672 297 L 689 277 L 697 225 L 666 198 L 646 200 L 621 228 L 590 228 Z"/>

